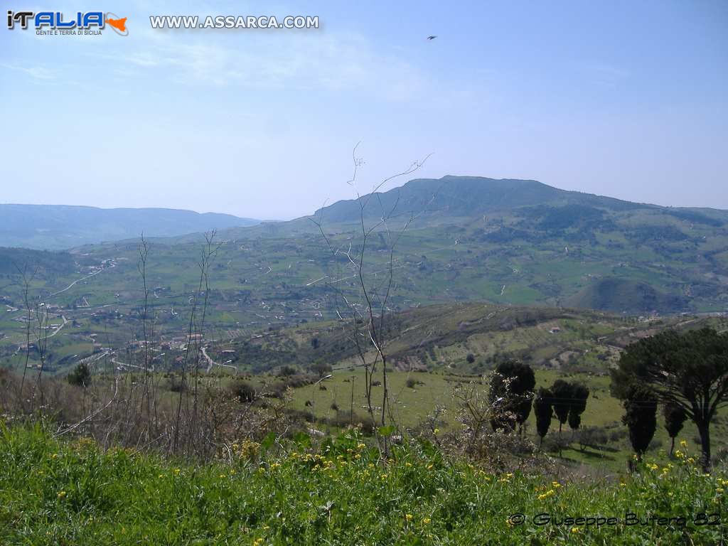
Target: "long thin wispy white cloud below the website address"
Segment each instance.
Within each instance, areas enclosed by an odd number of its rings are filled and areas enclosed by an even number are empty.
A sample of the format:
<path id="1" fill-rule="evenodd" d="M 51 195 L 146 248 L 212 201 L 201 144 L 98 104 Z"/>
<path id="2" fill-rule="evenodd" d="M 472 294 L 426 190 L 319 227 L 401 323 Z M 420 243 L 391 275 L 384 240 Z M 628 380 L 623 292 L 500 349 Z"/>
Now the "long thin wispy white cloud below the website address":
<path id="1" fill-rule="evenodd" d="M 126 41 L 125 51 L 118 54 L 88 55 L 113 59 L 117 68 L 166 70 L 178 84 L 358 90 L 386 100 L 411 100 L 418 89 L 427 88 L 421 71 L 402 58 L 377 52 L 363 36 L 235 32 L 147 31 Z"/>

